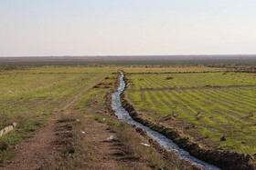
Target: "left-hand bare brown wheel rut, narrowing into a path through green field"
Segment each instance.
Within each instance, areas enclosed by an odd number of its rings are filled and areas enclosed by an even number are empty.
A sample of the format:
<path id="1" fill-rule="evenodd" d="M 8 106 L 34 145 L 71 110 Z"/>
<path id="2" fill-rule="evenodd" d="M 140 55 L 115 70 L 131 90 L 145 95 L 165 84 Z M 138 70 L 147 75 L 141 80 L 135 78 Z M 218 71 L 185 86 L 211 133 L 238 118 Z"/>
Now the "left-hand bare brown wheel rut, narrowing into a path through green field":
<path id="1" fill-rule="evenodd" d="M 74 96 L 69 104 L 64 105 L 62 110 L 66 110 L 69 106 L 74 105 L 80 100 L 80 97 L 86 93 L 93 85 L 99 84 L 105 77 L 99 79 L 96 83 L 83 89 L 78 95 Z M 70 111 L 66 111 L 69 114 Z M 46 162 L 51 162 L 58 156 L 58 151 L 53 147 L 52 143 L 57 140 L 56 122 L 61 118 L 61 113 L 52 115 L 45 121 L 44 125 L 33 133 L 32 138 L 18 143 L 13 150 L 15 158 L 3 169 L 38 169 Z M 2 169 L 0 167 L 0 169 Z"/>

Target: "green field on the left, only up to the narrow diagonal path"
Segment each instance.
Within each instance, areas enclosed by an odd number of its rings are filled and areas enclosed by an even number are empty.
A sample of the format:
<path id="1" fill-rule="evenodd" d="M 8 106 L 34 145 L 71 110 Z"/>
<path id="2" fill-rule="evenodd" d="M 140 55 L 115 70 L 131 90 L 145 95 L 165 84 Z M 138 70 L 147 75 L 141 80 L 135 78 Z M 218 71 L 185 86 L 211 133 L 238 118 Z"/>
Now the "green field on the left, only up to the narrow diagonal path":
<path id="1" fill-rule="evenodd" d="M 111 75 L 103 70 L 46 66 L 0 73 L 1 127 L 61 111 L 84 88 Z"/>

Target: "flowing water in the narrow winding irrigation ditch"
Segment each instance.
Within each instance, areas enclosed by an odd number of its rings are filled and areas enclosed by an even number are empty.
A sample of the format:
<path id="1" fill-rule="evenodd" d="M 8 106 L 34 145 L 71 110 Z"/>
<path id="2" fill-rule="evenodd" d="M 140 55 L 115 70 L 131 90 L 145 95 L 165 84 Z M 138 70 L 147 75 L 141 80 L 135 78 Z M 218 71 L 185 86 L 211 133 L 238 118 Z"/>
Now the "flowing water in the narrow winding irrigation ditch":
<path id="1" fill-rule="evenodd" d="M 136 125 L 137 127 L 142 128 L 144 131 L 147 132 L 148 135 L 150 135 L 152 138 L 155 139 L 156 142 L 158 142 L 160 145 L 163 145 L 167 150 L 174 152 L 176 155 L 178 155 L 181 159 L 187 160 L 192 165 L 198 165 L 202 167 L 203 169 L 213 169 L 213 170 L 219 170 L 219 167 L 216 167 L 214 165 L 209 165 L 208 163 L 205 163 L 204 161 L 201 161 L 197 159 L 196 157 L 189 155 L 187 151 L 180 148 L 178 145 L 176 145 L 172 140 L 165 137 L 165 135 L 161 135 L 158 132 L 155 132 L 154 130 L 150 129 L 147 126 L 144 126 L 136 121 L 133 120 L 133 118 L 129 115 L 129 113 L 123 108 L 120 100 L 120 95 L 122 94 L 125 83 L 123 81 L 123 73 L 121 73 L 120 77 L 120 86 L 118 87 L 118 90 L 116 93 L 112 95 L 112 109 L 115 111 L 115 115 L 118 116 L 118 118 L 122 119 L 123 121 L 127 122 L 131 125 Z"/>

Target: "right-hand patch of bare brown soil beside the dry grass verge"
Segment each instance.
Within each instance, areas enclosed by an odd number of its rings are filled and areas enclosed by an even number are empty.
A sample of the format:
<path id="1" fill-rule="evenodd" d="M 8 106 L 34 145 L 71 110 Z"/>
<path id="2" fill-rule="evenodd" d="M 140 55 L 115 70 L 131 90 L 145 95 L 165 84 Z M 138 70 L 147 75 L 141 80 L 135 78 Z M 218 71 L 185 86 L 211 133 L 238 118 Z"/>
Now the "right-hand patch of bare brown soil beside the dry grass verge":
<path id="1" fill-rule="evenodd" d="M 93 147 L 92 169 L 151 169 L 145 163 L 125 155 L 123 145 L 118 142 L 103 142 L 109 136 L 115 135 L 108 130 L 108 125 L 98 123 L 90 116 L 86 117 L 86 121 L 90 124 L 87 125 L 84 138 L 86 143 Z"/>

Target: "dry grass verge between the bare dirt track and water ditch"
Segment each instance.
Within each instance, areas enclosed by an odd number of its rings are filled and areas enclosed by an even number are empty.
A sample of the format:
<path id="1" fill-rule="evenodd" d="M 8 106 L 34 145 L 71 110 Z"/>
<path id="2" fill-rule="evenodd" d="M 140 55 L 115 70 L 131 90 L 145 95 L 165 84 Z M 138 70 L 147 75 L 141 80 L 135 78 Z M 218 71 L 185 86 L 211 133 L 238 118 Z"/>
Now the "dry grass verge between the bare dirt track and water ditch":
<path id="1" fill-rule="evenodd" d="M 101 123 L 107 123 L 110 130 L 116 133 L 120 144 L 124 146 L 123 152 L 128 159 L 146 162 L 147 165 L 154 169 L 176 169 L 181 166 L 175 156 L 167 158 L 165 155 L 158 153 L 153 145 L 149 147 L 142 145 L 142 143 L 149 144 L 148 139 L 136 133 L 132 125 L 107 118 L 104 119 L 99 115 L 94 115 L 94 119 Z"/>

